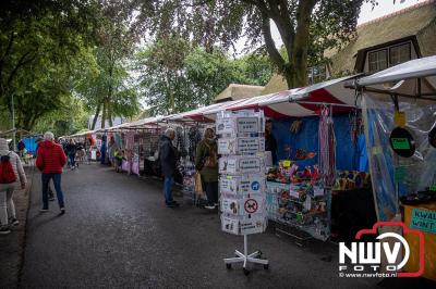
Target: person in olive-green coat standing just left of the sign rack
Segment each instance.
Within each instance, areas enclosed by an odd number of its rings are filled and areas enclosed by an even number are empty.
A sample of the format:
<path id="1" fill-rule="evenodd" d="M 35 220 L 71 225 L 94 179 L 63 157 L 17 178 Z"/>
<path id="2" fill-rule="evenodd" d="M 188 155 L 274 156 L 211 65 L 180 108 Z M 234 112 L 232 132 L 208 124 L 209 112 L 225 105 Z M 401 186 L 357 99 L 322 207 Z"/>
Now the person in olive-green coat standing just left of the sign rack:
<path id="1" fill-rule="evenodd" d="M 206 128 L 204 138 L 198 143 L 195 168 L 199 172 L 206 189 L 205 209 L 214 210 L 218 205 L 218 147 L 211 128 Z"/>

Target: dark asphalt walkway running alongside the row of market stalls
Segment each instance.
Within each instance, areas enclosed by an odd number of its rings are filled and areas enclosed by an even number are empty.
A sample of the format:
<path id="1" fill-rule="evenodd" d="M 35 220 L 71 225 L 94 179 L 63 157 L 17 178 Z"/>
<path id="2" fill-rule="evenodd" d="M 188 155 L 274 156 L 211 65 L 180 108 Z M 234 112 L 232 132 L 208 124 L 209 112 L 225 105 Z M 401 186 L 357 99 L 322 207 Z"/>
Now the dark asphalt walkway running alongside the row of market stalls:
<path id="1" fill-rule="evenodd" d="M 272 233 L 250 236 L 270 269 L 226 269 L 243 238 L 220 231 L 216 213 L 164 206 L 160 184 L 97 165 L 63 175 L 66 214 L 40 214 L 34 177 L 22 288 L 373 288 L 374 279 L 337 277 L 337 248 L 301 248 Z M 322 261 L 332 256 L 331 262 Z"/>

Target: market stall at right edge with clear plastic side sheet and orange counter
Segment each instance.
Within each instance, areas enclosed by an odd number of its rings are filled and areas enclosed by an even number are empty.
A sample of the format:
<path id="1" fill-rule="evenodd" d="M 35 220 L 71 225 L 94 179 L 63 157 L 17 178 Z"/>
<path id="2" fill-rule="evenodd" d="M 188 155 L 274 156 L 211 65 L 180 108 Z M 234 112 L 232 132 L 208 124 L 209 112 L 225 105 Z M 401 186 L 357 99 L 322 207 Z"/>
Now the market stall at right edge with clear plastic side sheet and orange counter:
<path id="1" fill-rule="evenodd" d="M 404 271 L 436 280 L 436 56 L 405 62 L 355 85 L 377 218 L 401 221 L 423 234 L 420 240 L 401 228 L 384 228 L 397 229 L 409 243 Z"/>

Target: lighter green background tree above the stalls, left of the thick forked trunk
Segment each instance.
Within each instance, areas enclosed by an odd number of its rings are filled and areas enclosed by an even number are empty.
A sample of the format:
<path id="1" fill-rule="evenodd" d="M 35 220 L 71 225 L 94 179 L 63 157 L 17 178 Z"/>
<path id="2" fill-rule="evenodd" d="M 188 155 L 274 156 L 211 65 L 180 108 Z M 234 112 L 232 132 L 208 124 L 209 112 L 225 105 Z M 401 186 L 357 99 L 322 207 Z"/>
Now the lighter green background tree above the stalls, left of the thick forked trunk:
<path id="1" fill-rule="evenodd" d="M 209 104 L 231 83 L 265 85 L 271 75 L 262 55 L 232 60 L 173 35 L 137 53 L 137 74 L 149 113 L 171 114 Z"/>

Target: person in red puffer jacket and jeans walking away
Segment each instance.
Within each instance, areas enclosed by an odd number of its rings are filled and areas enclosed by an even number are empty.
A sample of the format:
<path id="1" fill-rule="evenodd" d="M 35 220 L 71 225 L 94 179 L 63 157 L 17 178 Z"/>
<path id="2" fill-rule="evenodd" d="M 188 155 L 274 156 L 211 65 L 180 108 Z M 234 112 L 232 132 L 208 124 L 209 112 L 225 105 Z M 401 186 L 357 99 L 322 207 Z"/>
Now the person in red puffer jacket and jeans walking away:
<path id="1" fill-rule="evenodd" d="M 63 193 L 61 189 L 62 168 L 66 163 L 66 155 L 60 144 L 55 143 L 55 136 L 47 131 L 44 134 L 44 141 L 40 143 L 38 154 L 36 156 L 36 166 L 41 171 L 43 183 L 43 209 L 41 212 L 48 211 L 48 184 L 53 180 L 55 190 L 58 197 L 59 209 L 61 214 L 65 213 Z"/>

